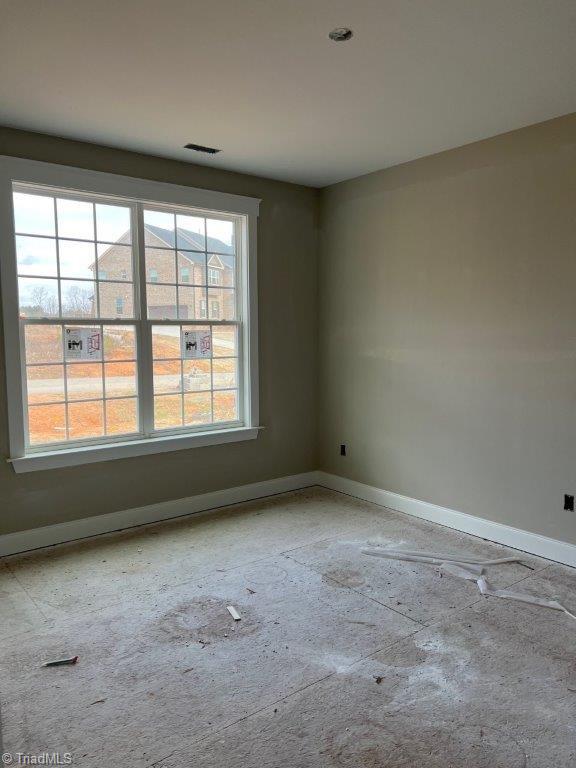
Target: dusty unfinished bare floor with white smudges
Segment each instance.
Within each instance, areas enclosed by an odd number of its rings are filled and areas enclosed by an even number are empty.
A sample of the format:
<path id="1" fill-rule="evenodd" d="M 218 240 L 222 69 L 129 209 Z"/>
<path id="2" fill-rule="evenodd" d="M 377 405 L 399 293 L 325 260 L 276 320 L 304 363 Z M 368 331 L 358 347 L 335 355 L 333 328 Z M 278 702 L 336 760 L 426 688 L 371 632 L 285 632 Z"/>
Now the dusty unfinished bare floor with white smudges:
<path id="1" fill-rule="evenodd" d="M 576 622 L 364 556 L 368 541 L 509 552 L 314 488 L 3 560 L 4 752 L 82 768 L 574 766 Z M 491 581 L 576 608 L 576 570 L 526 562 Z"/>

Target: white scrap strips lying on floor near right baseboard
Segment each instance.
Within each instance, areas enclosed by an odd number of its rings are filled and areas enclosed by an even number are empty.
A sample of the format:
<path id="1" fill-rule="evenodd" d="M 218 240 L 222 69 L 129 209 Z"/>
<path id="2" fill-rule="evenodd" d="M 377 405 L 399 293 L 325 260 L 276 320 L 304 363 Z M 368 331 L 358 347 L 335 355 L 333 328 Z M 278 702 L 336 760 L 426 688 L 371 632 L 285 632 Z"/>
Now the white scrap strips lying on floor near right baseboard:
<path id="1" fill-rule="evenodd" d="M 407 549 L 363 549 L 362 554 L 381 557 L 385 560 L 406 560 L 411 563 L 427 563 L 439 565 L 443 571 L 467 581 L 475 581 L 480 593 L 486 597 L 500 597 L 505 600 L 516 600 L 520 603 L 538 605 L 553 611 L 562 611 L 572 619 L 576 615 L 562 605 L 558 600 L 546 597 L 534 597 L 523 592 L 513 592 L 509 589 L 494 589 L 484 576 L 485 568 L 505 563 L 522 563 L 520 557 L 501 557 L 496 560 L 481 560 L 467 555 L 447 555 L 438 552 L 415 552 Z"/>

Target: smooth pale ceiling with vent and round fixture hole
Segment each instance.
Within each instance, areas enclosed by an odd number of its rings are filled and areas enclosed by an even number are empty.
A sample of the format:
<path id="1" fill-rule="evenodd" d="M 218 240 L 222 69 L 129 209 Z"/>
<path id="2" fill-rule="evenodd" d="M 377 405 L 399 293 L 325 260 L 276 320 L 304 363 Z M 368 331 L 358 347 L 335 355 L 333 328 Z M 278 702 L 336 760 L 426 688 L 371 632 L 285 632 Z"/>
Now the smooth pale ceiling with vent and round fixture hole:
<path id="1" fill-rule="evenodd" d="M 0 0 L 0 18 L 1 124 L 311 186 L 576 111 L 575 0 Z"/>

